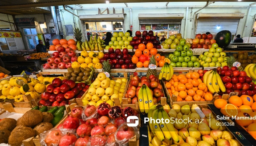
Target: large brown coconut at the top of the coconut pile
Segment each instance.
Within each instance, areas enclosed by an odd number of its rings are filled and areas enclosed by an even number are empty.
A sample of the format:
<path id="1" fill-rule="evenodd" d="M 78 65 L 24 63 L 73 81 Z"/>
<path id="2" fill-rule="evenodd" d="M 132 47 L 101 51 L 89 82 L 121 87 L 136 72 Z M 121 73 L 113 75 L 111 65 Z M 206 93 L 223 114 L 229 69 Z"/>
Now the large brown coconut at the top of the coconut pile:
<path id="1" fill-rule="evenodd" d="M 43 121 L 43 114 L 38 110 L 27 111 L 20 119 L 17 121 L 17 125 L 24 125 L 26 127 L 35 127 L 37 124 Z"/>

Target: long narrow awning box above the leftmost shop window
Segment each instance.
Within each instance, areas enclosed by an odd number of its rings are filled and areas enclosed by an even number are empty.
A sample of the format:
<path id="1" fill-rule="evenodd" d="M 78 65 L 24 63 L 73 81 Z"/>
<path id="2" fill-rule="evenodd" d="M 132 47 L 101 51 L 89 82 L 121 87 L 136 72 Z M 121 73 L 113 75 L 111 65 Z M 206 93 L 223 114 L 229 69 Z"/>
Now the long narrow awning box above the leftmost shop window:
<path id="1" fill-rule="evenodd" d="M 81 21 L 124 20 L 124 14 L 79 15 Z"/>

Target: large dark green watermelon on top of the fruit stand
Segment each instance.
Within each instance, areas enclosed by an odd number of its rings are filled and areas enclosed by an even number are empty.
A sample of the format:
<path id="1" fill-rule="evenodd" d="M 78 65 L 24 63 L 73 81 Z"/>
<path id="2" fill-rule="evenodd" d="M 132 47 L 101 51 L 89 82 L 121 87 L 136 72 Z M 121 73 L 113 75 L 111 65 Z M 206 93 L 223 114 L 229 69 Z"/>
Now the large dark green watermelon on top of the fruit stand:
<path id="1" fill-rule="evenodd" d="M 216 43 L 219 47 L 224 48 L 228 46 L 232 40 L 232 34 L 230 31 L 219 31 L 217 35 L 215 35 Z"/>

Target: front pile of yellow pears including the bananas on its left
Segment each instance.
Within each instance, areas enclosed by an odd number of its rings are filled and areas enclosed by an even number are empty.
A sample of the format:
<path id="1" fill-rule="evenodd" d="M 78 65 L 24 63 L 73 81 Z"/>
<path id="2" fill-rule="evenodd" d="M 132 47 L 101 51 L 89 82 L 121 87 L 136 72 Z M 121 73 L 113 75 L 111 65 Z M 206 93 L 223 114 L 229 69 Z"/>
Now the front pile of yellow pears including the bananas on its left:
<path id="1" fill-rule="evenodd" d="M 199 109 L 197 104 L 193 104 L 191 108 L 188 105 L 180 107 L 178 104 L 174 104 L 172 109 L 154 105 L 151 109 L 148 114 L 149 118 L 171 118 L 173 121 L 149 124 L 150 146 L 241 146 L 233 134 L 226 131 L 225 126 L 220 126 L 220 122 L 215 119 L 211 110 L 203 108 L 205 116 L 200 117 L 197 113 L 197 109 Z M 203 122 L 201 123 L 199 121 L 202 118 Z M 192 120 L 192 123 L 188 123 L 189 120 Z"/>

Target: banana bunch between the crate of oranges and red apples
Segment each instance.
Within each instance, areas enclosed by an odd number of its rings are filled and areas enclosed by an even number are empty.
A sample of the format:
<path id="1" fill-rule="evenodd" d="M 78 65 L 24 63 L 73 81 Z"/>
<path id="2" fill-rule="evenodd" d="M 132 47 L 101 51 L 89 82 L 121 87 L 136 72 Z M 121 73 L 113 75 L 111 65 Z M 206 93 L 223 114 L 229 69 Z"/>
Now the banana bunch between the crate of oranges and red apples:
<path id="1" fill-rule="evenodd" d="M 208 90 L 212 93 L 226 92 L 226 88 L 219 76 L 216 69 L 209 70 L 203 75 L 203 83 L 207 86 Z"/>

